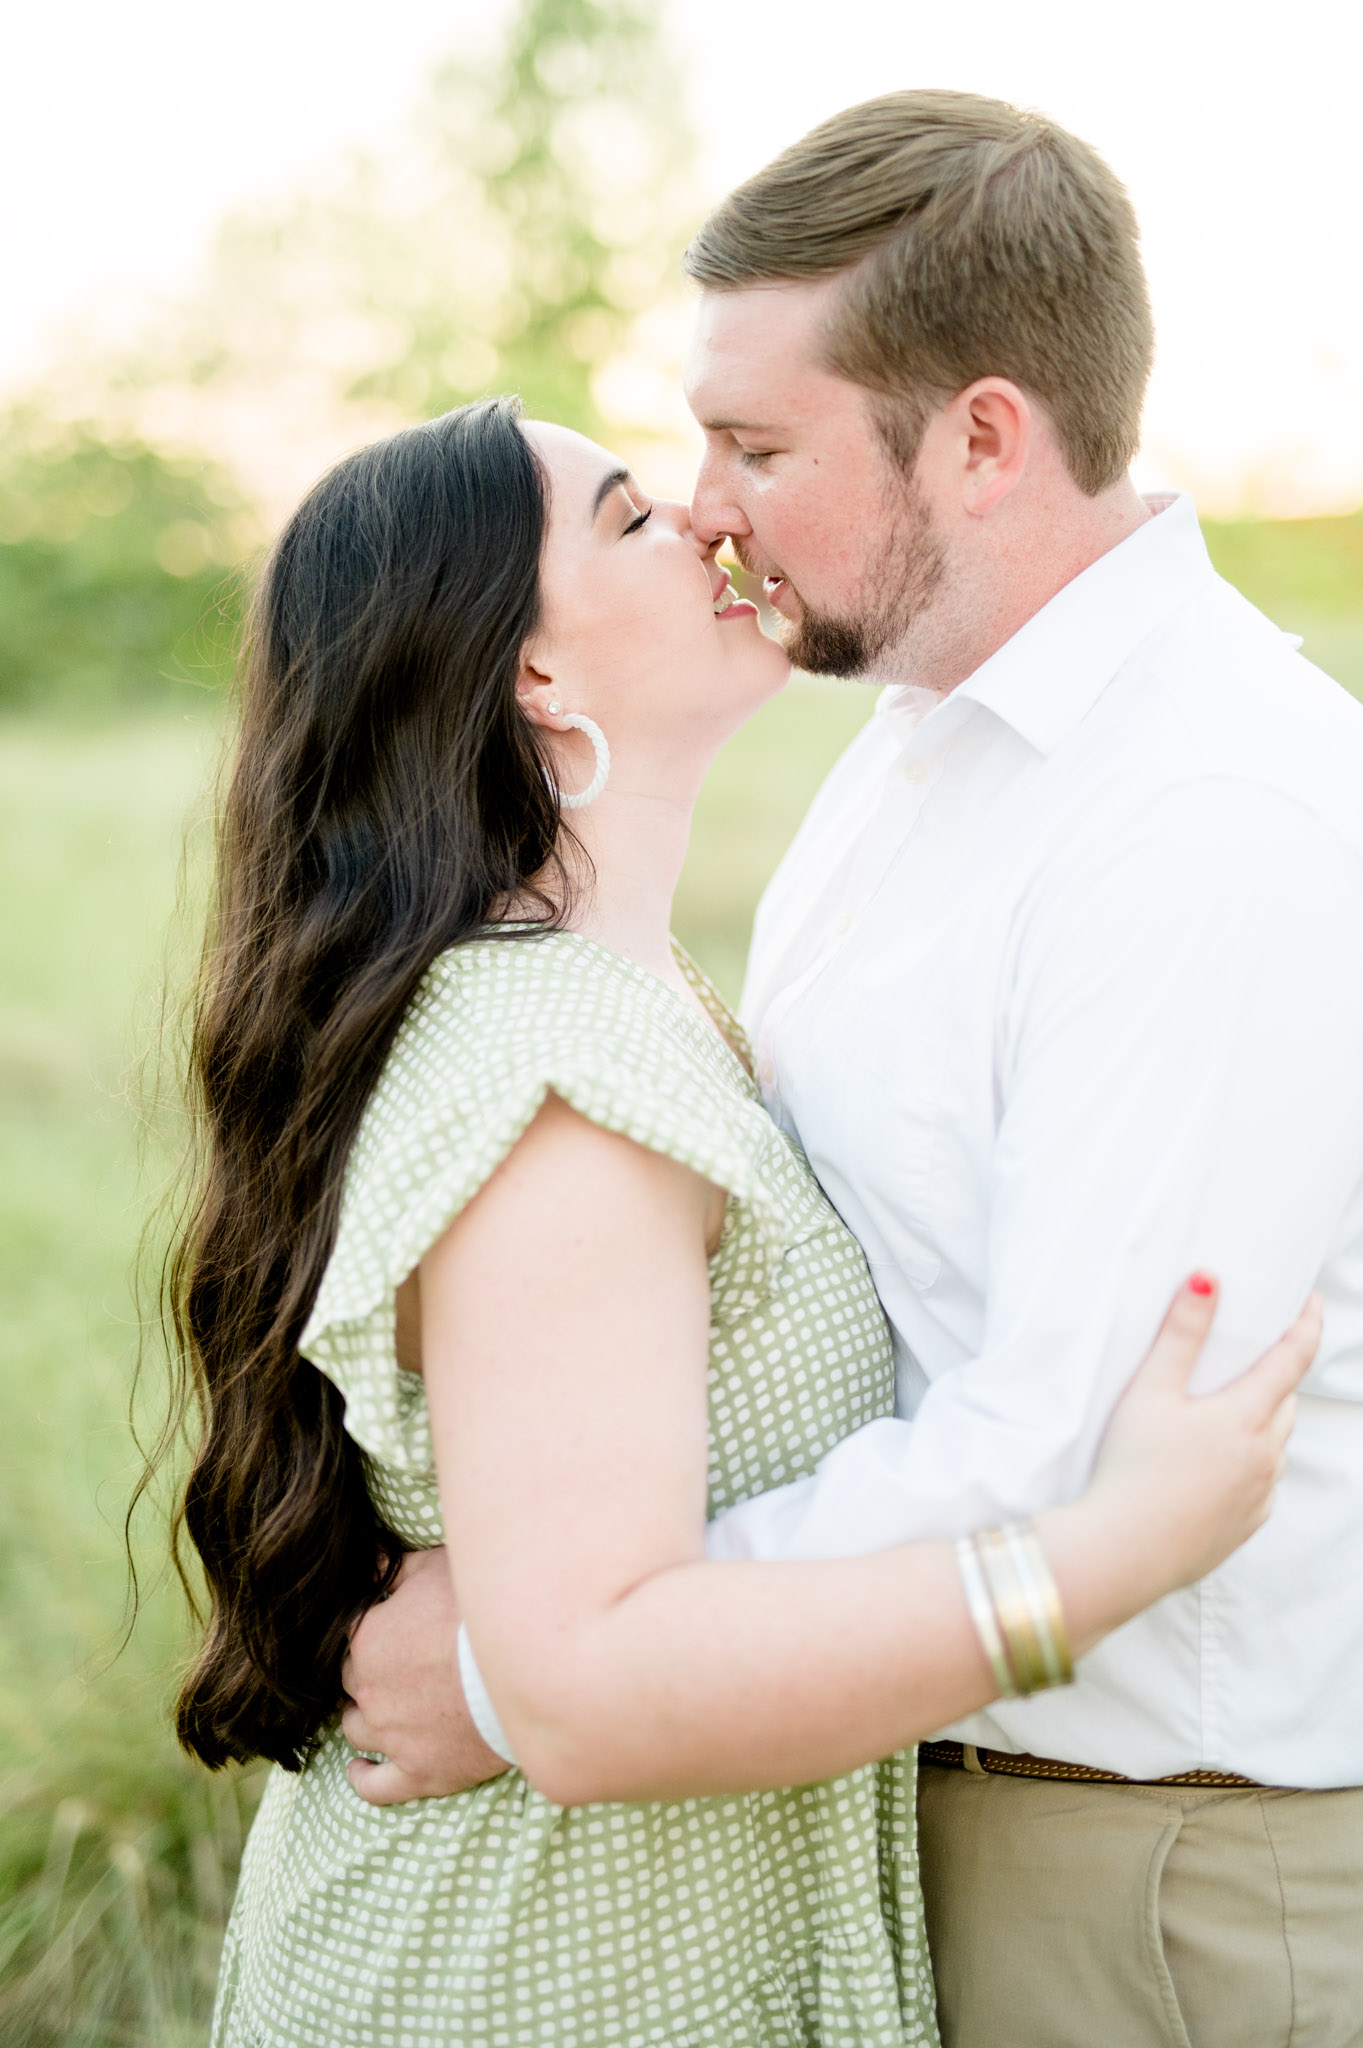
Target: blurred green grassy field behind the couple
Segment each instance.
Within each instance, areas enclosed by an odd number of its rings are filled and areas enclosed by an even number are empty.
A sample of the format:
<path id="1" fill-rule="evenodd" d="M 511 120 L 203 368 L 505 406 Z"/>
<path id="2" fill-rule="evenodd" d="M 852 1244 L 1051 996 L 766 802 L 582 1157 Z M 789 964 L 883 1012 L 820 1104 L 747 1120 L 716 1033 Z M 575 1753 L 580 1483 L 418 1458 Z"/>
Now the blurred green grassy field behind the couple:
<path id="1" fill-rule="evenodd" d="M 1363 694 L 1363 621 L 1281 604 Z M 677 905 L 735 995 L 753 901 L 827 764 L 870 713 L 798 684 L 716 764 Z M 137 1321 L 129 1268 L 164 1184 L 168 1118 L 139 1057 L 186 819 L 203 866 L 213 721 L 0 725 L 0 2040 L 180 2048 L 203 2040 L 252 1782 L 176 1751 L 166 1702 L 178 1595 L 151 1583 L 131 1645 L 123 1511 Z M 190 895 L 192 895 L 190 881 Z M 170 930 L 170 940 L 168 940 Z M 143 1534 L 156 1581 L 156 1528 Z"/>

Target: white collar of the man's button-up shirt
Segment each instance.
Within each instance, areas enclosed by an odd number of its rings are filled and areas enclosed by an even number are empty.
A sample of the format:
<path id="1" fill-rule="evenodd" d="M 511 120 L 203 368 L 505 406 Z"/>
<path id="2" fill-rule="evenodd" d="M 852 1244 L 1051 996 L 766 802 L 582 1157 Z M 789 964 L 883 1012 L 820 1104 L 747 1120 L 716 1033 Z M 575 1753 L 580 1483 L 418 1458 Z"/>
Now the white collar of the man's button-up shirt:
<path id="1" fill-rule="evenodd" d="M 939 709 L 982 705 L 1038 754 L 1052 754 L 1136 647 L 1216 575 L 1193 500 L 1175 492 L 1146 504 L 1156 518 L 1081 569 Z M 913 684 L 892 686 L 878 711 L 907 739 L 923 717 L 921 698 Z"/>

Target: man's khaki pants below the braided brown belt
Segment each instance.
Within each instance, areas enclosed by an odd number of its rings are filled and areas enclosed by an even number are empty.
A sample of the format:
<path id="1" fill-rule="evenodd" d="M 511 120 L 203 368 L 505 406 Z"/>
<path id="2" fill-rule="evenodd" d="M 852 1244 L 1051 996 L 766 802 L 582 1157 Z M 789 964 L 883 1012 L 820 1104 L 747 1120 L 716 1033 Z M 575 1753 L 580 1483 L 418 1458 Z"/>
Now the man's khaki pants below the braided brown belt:
<path id="1" fill-rule="evenodd" d="M 1363 2048 L 1363 1790 L 925 1763 L 943 2048 Z"/>

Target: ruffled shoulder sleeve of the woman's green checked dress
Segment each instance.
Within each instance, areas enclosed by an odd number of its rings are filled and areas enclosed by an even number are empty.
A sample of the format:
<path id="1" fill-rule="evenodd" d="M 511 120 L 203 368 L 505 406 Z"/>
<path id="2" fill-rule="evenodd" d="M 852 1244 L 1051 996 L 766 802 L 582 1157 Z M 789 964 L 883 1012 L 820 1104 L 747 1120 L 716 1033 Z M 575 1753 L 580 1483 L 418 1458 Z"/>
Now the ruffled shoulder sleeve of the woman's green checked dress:
<path id="1" fill-rule="evenodd" d="M 729 1198 L 712 1315 L 767 1294 L 821 1227 L 808 1169 L 733 1053 L 665 983 L 575 934 L 477 940 L 417 991 L 352 1147 L 340 1227 L 301 1352 L 381 1464 L 432 1464 L 420 1374 L 397 1364 L 395 1294 L 546 1096 L 690 1165 Z"/>

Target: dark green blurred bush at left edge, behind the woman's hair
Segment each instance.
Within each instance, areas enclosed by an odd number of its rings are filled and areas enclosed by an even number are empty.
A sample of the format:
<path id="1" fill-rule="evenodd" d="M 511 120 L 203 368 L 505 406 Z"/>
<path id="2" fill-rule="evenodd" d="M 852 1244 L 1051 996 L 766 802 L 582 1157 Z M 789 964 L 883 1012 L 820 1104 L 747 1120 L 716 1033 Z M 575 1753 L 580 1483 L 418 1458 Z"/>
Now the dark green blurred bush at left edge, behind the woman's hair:
<path id="1" fill-rule="evenodd" d="M 227 571 L 258 539 L 227 475 L 27 412 L 2 446 L 0 709 L 213 688 L 235 631 Z"/>

